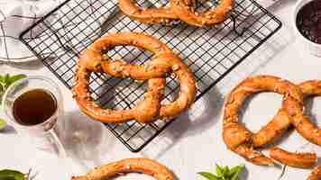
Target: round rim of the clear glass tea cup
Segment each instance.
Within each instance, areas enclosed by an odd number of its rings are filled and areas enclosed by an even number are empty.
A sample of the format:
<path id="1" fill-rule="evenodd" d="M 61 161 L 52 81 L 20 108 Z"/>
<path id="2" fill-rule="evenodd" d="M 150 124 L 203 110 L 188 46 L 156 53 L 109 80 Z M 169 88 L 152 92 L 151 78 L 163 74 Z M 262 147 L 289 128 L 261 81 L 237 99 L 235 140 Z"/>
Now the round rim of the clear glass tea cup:
<path id="1" fill-rule="evenodd" d="M 30 80 L 30 79 L 36 79 L 36 80 L 42 80 L 42 81 L 48 82 L 50 84 L 50 86 L 52 86 L 58 92 L 59 97 L 56 97 L 56 95 L 54 95 L 54 96 L 56 98 L 57 103 L 59 103 L 58 101 L 60 101 L 62 94 L 60 92 L 60 89 L 58 88 L 58 85 L 52 79 L 50 79 L 49 77 L 46 77 L 46 76 L 26 76 L 22 79 L 19 79 L 18 81 L 15 81 L 14 84 L 10 85 L 6 89 L 5 94 L 2 97 L 1 108 L 4 110 L 5 115 L 7 117 L 10 117 L 10 115 L 7 113 L 7 111 L 5 111 L 5 99 L 8 95 L 8 93 L 14 88 L 15 85 L 19 85 L 19 84 L 23 83 L 24 81 Z M 8 118 L 7 121 L 13 122 L 14 125 L 19 126 L 19 127 L 23 127 L 24 129 L 32 129 L 34 127 L 40 127 L 40 126 L 46 124 L 48 121 L 51 121 L 53 118 L 56 118 L 58 111 L 59 111 L 59 107 L 57 107 L 56 111 L 50 116 L 50 118 L 48 118 L 46 121 L 43 121 L 43 122 L 35 124 L 35 125 L 23 125 L 17 121 L 12 120 L 11 118 Z"/>

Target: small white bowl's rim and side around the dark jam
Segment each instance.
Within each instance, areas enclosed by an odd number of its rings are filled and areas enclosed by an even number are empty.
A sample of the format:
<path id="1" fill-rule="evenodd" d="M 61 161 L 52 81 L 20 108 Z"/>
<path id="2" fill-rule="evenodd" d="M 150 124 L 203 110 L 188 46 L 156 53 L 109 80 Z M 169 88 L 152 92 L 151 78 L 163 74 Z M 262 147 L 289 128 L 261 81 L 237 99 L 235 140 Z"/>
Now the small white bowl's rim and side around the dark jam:
<path id="1" fill-rule="evenodd" d="M 306 4 L 310 3 L 313 0 L 298 0 L 297 4 L 294 7 L 294 14 L 292 17 L 292 23 L 294 28 L 294 33 L 298 37 L 298 40 L 304 44 L 304 47 L 313 55 L 317 57 L 321 57 L 321 44 L 317 44 L 316 42 L 313 42 L 311 40 L 308 40 L 306 37 L 304 37 L 300 31 L 298 31 L 297 26 L 297 15 L 298 11 Z"/>

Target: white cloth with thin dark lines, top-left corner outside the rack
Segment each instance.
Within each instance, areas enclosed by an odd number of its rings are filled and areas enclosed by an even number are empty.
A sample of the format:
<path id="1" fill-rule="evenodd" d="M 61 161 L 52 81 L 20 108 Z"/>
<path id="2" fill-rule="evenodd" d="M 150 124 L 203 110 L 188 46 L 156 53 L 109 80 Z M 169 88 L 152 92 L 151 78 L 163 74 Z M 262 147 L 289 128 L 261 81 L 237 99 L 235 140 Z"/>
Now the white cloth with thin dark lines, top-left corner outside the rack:
<path id="1" fill-rule="evenodd" d="M 19 35 L 60 3 L 61 0 L 0 0 L 0 60 L 36 59 Z"/>

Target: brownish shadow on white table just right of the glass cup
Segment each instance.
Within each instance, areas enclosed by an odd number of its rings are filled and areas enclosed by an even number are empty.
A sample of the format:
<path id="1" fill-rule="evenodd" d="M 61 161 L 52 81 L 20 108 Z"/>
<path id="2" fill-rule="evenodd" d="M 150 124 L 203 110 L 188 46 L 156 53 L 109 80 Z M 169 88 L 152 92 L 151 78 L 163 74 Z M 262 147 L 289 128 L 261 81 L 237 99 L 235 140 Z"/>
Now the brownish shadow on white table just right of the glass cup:
<path id="1" fill-rule="evenodd" d="M 113 147 L 114 140 L 106 133 L 105 126 L 93 121 L 81 112 L 68 112 L 65 116 L 65 139 L 63 144 L 67 156 L 86 170 L 90 168 L 84 160 L 92 161 L 95 166 L 103 164 L 101 157 Z"/>

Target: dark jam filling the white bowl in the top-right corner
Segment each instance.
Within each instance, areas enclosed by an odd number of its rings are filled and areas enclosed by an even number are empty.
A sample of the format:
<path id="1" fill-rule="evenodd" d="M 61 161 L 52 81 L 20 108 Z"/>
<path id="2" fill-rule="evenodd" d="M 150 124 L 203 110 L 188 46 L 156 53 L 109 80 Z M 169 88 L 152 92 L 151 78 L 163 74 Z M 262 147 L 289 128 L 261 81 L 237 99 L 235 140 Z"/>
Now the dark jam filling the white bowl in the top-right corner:
<path id="1" fill-rule="evenodd" d="M 321 0 L 313 0 L 298 11 L 297 26 L 308 40 L 321 44 Z"/>

